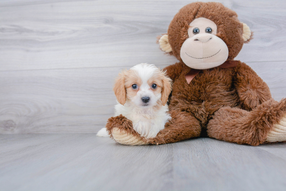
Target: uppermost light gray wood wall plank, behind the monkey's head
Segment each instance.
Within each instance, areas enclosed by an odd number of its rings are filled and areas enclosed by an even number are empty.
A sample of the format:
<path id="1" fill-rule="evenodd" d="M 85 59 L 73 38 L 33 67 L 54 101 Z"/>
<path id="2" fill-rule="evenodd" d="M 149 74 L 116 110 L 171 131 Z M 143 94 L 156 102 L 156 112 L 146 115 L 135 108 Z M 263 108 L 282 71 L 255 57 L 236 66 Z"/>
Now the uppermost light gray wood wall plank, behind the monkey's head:
<path id="1" fill-rule="evenodd" d="M 220 0 L 254 31 L 238 59 L 286 60 L 286 3 Z M 190 1 L 1 1 L 0 71 L 173 64 L 158 48 L 172 17 Z"/>

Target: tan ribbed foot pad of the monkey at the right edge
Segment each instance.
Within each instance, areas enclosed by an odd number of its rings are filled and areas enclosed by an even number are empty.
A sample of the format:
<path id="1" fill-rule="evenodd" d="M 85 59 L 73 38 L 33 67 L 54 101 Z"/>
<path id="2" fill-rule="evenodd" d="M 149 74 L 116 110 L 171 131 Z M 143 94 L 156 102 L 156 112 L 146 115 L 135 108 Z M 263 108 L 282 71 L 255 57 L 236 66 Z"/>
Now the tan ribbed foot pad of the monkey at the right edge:
<path id="1" fill-rule="evenodd" d="M 269 132 L 266 141 L 286 141 L 286 115 L 280 120 L 278 124 L 274 125 L 274 128 L 271 132 Z"/>

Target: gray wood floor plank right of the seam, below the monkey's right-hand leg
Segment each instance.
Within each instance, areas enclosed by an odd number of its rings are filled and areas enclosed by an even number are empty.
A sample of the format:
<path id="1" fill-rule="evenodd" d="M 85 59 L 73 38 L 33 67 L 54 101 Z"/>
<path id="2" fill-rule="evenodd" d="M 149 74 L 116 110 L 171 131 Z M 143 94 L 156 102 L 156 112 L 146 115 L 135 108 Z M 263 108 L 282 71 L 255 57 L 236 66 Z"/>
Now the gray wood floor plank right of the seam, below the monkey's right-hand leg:
<path id="1" fill-rule="evenodd" d="M 260 147 L 209 138 L 178 142 L 176 148 L 176 190 L 285 189 L 285 153 L 277 157 Z"/>

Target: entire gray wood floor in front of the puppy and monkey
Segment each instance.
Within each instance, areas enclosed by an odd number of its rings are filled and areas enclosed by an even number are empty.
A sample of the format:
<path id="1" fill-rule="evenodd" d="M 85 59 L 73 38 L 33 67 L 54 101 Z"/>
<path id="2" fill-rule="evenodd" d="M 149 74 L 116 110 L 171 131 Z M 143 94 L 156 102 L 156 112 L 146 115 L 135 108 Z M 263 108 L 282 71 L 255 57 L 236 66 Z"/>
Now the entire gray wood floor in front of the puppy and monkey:
<path id="1" fill-rule="evenodd" d="M 95 134 L 0 135 L 0 190 L 285 190 L 286 143 L 125 146 Z"/>

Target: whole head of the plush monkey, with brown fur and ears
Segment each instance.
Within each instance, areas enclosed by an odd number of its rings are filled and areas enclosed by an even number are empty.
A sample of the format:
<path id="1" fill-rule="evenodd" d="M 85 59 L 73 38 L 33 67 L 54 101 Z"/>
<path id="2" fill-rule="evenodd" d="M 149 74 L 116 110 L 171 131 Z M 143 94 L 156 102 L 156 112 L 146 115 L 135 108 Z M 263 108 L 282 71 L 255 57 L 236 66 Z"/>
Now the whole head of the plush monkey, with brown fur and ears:
<path id="1" fill-rule="evenodd" d="M 194 2 L 179 10 L 158 43 L 190 68 L 209 69 L 233 60 L 251 39 L 235 11 L 222 3 Z"/>

